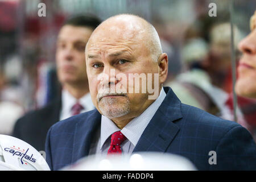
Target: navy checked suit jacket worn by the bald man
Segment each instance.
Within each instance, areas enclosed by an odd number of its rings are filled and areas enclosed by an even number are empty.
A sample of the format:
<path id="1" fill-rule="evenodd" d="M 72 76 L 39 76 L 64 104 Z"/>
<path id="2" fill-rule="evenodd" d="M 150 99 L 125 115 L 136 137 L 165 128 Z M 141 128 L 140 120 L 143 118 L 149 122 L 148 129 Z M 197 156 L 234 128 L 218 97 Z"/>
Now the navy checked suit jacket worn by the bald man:
<path id="1" fill-rule="evenodd" d="M 164 91 L 166 98 L 133 152 L 157 151 L 182 155 L 199 170 L 256 169 L 256 144 L 244 127 L 181 104 L 168 87 Z M 87 156 L 100 125 L 101 114 L 97 110 L 53 125 L 46 140 L 49 167 L 60 169 Z M 210 151 L 216 151 L 217 164 L 209 164 Z"/>

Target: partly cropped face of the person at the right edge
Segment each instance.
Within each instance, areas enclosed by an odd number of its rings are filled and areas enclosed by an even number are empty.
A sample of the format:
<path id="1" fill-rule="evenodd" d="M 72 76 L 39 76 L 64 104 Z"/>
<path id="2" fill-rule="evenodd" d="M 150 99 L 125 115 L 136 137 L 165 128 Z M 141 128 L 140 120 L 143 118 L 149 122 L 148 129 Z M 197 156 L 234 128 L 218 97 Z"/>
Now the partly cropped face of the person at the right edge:
<path id="1" fill-rule="evenodd" d="M 256 29 L 239 44 L 243 55 L 238 67 L 236 92 L 240 96 L 256 98 Z"/>

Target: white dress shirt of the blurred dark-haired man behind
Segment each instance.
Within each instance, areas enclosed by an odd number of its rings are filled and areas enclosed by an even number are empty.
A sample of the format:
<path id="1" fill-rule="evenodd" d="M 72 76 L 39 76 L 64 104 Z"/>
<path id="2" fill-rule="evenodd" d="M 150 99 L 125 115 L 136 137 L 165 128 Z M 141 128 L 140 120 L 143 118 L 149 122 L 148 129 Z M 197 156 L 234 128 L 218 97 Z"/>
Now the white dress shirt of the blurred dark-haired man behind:
<path id="1" fill-rule="evenodd" d="M 77 102 L 84 107 L 84 109 L 81 110 L 81 113 L 95 109 L 89 93 L 77 100 L 68 92 L 68 90 L 63 89 L 61 92 L 61 102 L 60 120 L 67 119 L 72 116 L 72 107 Z"/>

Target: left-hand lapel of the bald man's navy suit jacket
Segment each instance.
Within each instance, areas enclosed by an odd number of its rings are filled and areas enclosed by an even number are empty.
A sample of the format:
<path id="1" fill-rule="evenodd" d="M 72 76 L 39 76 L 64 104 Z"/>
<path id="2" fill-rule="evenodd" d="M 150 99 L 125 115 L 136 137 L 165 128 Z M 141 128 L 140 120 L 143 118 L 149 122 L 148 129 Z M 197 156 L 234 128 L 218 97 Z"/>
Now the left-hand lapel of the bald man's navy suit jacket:
<path id="1" fill-rule="evenodd" d="M 76 162 L 78 159 L 89 154 L 90 144 L 94 134 L 101 125 L 101 114 L 96 109 L 89 115 L 85 113 L 80 115 L 86 115 L 87 117 L 81 117 L 81 121 L 76 123 L 72 162 Z"/>

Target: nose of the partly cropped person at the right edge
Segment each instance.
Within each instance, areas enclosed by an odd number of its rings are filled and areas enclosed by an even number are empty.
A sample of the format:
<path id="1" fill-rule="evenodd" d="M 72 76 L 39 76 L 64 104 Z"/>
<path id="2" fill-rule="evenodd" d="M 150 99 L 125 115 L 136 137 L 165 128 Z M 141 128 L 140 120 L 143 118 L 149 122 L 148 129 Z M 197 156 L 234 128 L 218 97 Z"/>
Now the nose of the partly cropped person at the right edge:
<path id="1" fill-rule="evenodd" d="M 251 34 L 246 36 L 241 42 L 238 44 L 238 48 L 243 53 L 247 53 L 250 55 L 254 55 L 256 53 L 256 42 L 253 42 L 253 38 L 251 38 Z"/>

